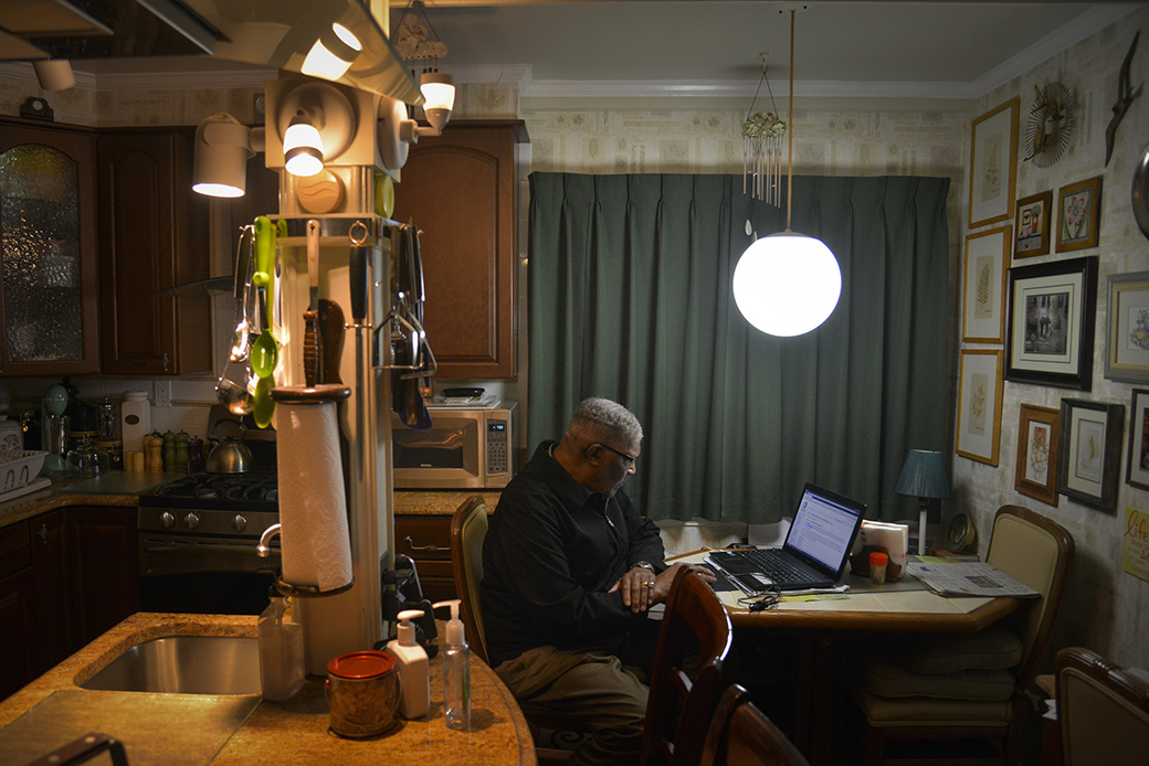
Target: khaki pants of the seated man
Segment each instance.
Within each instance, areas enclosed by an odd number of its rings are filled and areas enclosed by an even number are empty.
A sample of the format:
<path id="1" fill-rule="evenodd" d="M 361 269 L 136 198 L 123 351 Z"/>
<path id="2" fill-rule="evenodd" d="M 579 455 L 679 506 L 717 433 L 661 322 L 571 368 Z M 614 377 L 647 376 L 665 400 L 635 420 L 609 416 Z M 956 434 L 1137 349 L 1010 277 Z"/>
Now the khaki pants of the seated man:
<path id="1" fill-rule="evenodd" d="M 500 664 L 495 673 L 529 719 L 557 719 L 589 735 L 572 766 L 638 764 L 648 693 L 640 676 L 646 679 L 654 663 L 658 626 L 650 620 L 617 647 L 600 650 L 538 647 Z"/>

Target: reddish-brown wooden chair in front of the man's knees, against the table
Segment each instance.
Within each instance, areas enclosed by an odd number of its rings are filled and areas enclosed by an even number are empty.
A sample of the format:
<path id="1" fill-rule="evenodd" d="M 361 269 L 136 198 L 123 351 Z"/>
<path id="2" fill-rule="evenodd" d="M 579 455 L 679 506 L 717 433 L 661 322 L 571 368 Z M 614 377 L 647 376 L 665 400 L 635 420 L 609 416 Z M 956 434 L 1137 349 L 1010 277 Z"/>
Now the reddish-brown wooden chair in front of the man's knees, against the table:
<path id="1" fill-rule="evenodd" d="M 650 671 L 642 766 L 699 763 L 727 686 L 731 639 L 726 608 L 702 578 L 683 567 L 666 598 Z M 693 673 L 684 665 L 693 665 Z"/>

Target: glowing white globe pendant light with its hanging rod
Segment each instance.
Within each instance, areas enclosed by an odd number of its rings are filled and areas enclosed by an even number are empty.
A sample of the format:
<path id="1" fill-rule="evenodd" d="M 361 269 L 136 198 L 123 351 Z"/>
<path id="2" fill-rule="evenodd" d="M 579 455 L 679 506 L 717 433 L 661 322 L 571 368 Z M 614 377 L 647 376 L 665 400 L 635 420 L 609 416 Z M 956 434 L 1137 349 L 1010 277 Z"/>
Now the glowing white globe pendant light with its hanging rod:
<path id="1" fill-rule="evenodd" d="M 842 272 L 830 248 L 791 231 L 794 192 L 794 10 L 791 10 L 789 146 L 786 158 L 786 231 L 750 243 L 734 266 L 734 303 L 764 333 L 802 335 L 833 314 Z"/>

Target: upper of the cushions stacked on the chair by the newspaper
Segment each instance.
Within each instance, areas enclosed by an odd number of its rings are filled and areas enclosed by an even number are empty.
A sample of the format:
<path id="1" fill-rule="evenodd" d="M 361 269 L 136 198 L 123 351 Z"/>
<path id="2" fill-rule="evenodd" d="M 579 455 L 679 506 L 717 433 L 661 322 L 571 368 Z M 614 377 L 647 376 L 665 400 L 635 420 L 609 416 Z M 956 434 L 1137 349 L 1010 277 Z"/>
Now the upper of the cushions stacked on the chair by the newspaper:
<path id="1" fill-rule="evenodd" d="M 1004 671 L 1021 661 L 1021 640 L 994 625 L 969 635 L 901 639 L 889 645 L 899 665 L 915 673 Z"/>

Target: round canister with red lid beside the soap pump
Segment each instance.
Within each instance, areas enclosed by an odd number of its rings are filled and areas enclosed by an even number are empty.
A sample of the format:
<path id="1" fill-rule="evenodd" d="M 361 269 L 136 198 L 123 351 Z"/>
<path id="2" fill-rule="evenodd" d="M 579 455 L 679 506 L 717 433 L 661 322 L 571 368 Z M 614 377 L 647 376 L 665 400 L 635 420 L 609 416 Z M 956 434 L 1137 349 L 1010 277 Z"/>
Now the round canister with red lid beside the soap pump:
<path id="1" fill-rule="evenodd" d="M 399 722 L 399 675 L 385 651 L 352 651 L 327 663 L 331 730 L 354 740 L 372 737 Z"/>

